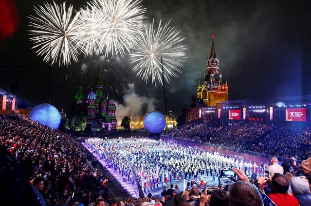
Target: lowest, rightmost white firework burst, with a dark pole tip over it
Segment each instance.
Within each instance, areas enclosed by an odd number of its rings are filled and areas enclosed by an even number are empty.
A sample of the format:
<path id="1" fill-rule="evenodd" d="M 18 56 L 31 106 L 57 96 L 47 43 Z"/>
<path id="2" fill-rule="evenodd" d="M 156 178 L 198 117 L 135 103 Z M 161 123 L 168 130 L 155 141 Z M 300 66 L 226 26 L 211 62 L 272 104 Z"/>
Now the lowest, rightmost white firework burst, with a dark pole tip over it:
<path id="1" fill-rule="evenodd" d="M 169 26 L 161 24 L 158 29 L 154 29 L 152 24 L 145 24 L 145 31 L 140 32 L 136 37 L 134 52 L 130 54 L 131 63 L 136 64 L 133 71 L 137 72 L 137 77 L 146 81 L 151 79 L 156 85 L 158 80 L 162 81 L 162 64 L 163 58 L 164 78 L 169 82 L 170 76 L 178 78 L 182 73 L 180 68 L 184 68 L 183 62 L 187 58 L 186 51 L 188 47 L 182 42 L 185 38 L 180 36 L 181 30 L 175 30 Z"/>

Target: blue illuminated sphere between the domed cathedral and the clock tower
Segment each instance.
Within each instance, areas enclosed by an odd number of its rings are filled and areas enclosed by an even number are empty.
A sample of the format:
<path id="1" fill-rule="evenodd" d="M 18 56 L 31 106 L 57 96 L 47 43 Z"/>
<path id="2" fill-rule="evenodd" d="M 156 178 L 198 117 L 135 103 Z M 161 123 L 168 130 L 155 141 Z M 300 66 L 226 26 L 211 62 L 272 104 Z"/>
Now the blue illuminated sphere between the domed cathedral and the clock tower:
<path id="1" fill-rule="evenodd" d="M 160 111 L 151 111 L 144 119 L 144 126 L 150 133 L 160 133 L 166 126 L 165 116 Z"/>

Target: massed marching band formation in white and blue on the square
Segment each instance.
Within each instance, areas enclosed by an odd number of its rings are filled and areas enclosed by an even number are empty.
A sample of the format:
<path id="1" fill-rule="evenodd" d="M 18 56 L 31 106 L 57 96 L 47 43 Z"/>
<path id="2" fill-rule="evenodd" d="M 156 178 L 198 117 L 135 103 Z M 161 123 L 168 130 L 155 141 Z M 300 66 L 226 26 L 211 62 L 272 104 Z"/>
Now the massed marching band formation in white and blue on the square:
<path id="1" fill-rule="evenodd" d="M 172 180 L 184 179 L 200 179 L 200 185 L 204 186 L 204 174 L 213 176 L 215 180 L 215 177 L 219 177 L 220 170 L 232 167 L 244 170 L 247 175 L 254 172 L 262 174 L 265 170 L 262 164 L 244 161 L 240 156 L 227 157 L 175 142 L 145 138 L 89 138 L 85 140 L 85 144 L 122 174 L 124 181 L 131 181 L 134 185 L 135 178 L 129 166 L 129 163 L 132 164 L 144 190 L 152 190 L 159 184 L 167 184 Z"/>

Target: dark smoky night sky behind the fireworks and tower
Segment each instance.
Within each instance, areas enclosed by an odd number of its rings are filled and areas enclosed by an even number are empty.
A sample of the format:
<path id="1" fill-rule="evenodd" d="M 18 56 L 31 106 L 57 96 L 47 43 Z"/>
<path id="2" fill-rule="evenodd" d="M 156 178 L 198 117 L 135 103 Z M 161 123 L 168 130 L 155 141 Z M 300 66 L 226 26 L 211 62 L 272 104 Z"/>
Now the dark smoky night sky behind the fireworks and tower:
<path id="1" fill-rule="evenodd" d="M 16 0 L 20 24 L 12 38 L 0 43 L 0 88 L 18 83 L 18 96 L 32 104 L 48 101 L 49 65 L 31 49 L 27 30 L 33 6 L 43 0 Z M 67 0 L 75 9 L 85 0 Z M 228 81 L 229 100 L 249 99 L 265 103 L 275 96 L 311 95 L 311 19 L 308 1 L 297 0 L 143 0 L 146 16 L 159 21 L 171 19 L 182 29 L 189 46 L 189 58 L 180 79 L 166 85 L 168 110 L 189 107 L 199 80 L 206 72 L 206 57 L 215 35 L 222 80 Z M 123 102 L 128 84 L 138 96 L 153 99 L 155 109 L 164 112 L 163 88 L 135 78 L 128 57 L 86 59 L 68 68 L 52 69 L 51 104 L 70 111 L 73 98 L 83 86 L 87 95 L 103 71 L 105 90 Z"/>

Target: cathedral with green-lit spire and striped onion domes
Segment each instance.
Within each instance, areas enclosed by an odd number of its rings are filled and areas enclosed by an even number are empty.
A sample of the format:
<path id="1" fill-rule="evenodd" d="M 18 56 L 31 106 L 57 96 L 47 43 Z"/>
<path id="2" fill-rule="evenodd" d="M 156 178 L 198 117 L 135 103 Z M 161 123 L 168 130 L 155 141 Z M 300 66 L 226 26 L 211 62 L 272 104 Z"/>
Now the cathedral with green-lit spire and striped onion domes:
<path id="1" fill-rule="evenodd" d="M 101 72 L 102 70 L 99 68 L 96 85 L 87 98 L 83 95 L 82 87 L 80 87 L 74 96 L 73 113 L 83 112 L 86 115 L 87 128 L 91 127 L 92 131 L 97 130 L 98 127 L 111 131 L 117 128 L 115 97 L 112 94 L 107 98 L 104 97 Z"/>

